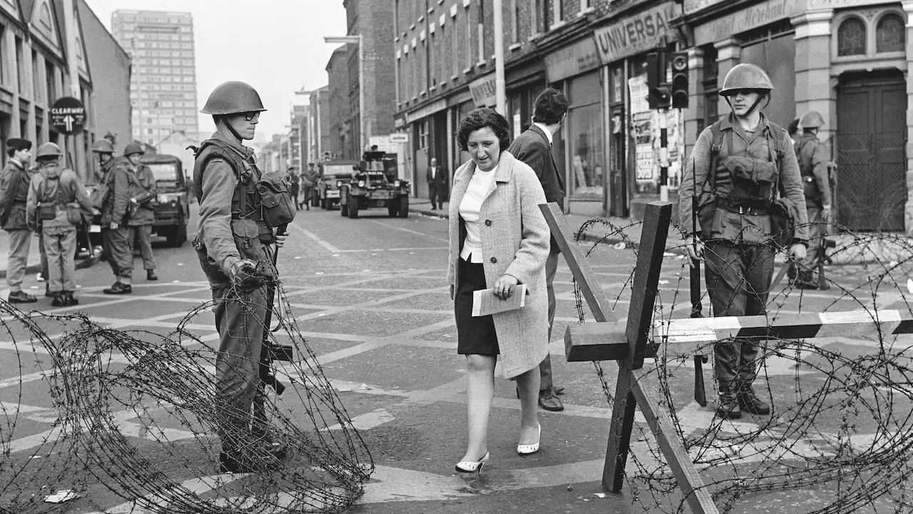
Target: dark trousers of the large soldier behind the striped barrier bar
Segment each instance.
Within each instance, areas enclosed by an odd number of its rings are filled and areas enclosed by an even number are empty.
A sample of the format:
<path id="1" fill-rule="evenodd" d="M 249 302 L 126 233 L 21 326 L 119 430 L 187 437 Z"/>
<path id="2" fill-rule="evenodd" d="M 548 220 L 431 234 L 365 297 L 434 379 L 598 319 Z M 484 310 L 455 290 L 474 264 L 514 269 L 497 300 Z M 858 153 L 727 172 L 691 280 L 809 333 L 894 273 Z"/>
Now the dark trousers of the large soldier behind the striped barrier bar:
<path id="1" fill-rule="evenodd" d="M 713 316 L 763 316 L 773 279 L 770 245 L 708 241 L 705 280 Z M 720 387 L 735 381 L 750 385 L 757 376 L 759 339 L 741 337 L 714 346 L 714 369 Z"/>

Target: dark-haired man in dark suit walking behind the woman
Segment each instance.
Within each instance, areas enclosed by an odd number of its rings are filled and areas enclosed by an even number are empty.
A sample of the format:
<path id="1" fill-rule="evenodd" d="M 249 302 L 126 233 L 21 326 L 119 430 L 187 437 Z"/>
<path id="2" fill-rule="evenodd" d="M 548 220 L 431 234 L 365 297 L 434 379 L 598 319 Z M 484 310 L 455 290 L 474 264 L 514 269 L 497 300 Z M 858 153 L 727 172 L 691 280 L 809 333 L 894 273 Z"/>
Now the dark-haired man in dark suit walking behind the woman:
<path id="1" fill-rule="evenodd" d="M 545 200 L 558 202 L 564 205 L 564 178 L 555 165 L 551 155 L 551 139 L 561 127 L 564 116 L 568 112 L 568 99 L 561 91 L 547 88 L 536 98 L 536 106 L 532 115 L 532 126 L 523 134 L 519 134 L 510 144 L 508 151 L 519 160 L 529 165 L 545 190 Z M 555 289 L 552 283 L 555 272 L 558 270 L 558 255 L 561 251 L 554 238 L 551 239 L 551 253 L 545 262 L 545 281 L 549 294 L 549 341 L 551 341 L 551 326 L 555 321 Z M 547 411 L 563 411 L 564 405 L 559 394 L 564 392 L 563 387 L 555 386 L 551 380 L 551 356 L 546 356 L 539 369 L 541 384 L 539 391 L 539 404 Z"/>

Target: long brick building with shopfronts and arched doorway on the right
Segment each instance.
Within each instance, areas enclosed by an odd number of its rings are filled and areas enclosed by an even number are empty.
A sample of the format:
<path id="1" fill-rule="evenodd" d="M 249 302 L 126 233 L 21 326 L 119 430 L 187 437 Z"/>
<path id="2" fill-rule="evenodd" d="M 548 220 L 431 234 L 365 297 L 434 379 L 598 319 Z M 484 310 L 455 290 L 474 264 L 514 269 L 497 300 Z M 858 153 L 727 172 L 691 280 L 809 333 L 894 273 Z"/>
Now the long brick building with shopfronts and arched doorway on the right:
<path id="1" fill-rule="evenodd" d="M 764 112 L 786 125 L 813 108 L 840 166 L 839 220 L 913 230 L 913 135 L 907 73 L 913 1 L 502 0 L 507 117 L 525 130 L 547 84 L 571 101 L 553 144 L 570 212 L 637 216 L 658 198 L 659 112 L 645 102 L 646 54 L 665 41 L 689 54 L 689 107 L 668 112 L 669 189 L 687 150 L 729 112 L 719 84 L 737 63 L 771 74 Z M 493 106 L 492 0 L 394 0 L 396 126 L 411 135 L 416 191 L 437 157 L 467 161 L 452 134 Z M 872 180 L 871 177 L 876 177 Z M 848 181 L 848 182 L 847 182 Z M 846 187 L 844 187 L 846 185 Z M 906 213 L 906 214 L 905 214 Z"/>

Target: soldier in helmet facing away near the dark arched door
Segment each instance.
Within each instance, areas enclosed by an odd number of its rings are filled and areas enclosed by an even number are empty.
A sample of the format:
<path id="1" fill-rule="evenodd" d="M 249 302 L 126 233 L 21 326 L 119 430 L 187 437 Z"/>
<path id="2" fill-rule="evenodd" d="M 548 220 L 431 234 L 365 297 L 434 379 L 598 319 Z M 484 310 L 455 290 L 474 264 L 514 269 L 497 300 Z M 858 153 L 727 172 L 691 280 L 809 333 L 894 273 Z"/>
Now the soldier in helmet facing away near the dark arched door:
<path id="1" fill-rule="evenodd" d="M 802 173 L 805 209 L 812 224 L 809 226 L 808 254 L 802 262 L 797 263 L 793 285 L 806 289 L 818 287 L 818 281 L 812 275 L 823 253 L 825 229 L 833 205 L 828 173 L 830 155 L 825 145 L 818 141 L 818 128 L 823 125 L 824 118 L 821 114 L 815 111 L 805 112 L 799 118 L 802 135 L 795 146 L 799 171 Z"/>

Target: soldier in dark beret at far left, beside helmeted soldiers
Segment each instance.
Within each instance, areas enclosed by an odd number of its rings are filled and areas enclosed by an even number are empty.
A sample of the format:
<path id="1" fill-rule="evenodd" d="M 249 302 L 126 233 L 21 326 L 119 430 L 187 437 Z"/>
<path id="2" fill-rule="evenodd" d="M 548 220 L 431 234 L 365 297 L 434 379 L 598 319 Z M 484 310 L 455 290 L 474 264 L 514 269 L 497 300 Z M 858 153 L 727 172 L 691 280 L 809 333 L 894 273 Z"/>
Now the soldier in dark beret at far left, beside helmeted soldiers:
<path id="1" fill-rule="evenodd" d="M 37 298 L 22 290 L 32 241 L 26 220 L 28 185 L 32 181 L 32 174 L 26 166 L 32 157 L 32 142 L 13 138 L 6 141 L 6 147 L 9 160 L 0 175 L 0 225 L 9 234 L 9 255 L 6 258 L 6 284 L 9 285 L 7 301 L 11 304 L 33 304 Z"/>

